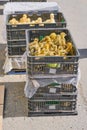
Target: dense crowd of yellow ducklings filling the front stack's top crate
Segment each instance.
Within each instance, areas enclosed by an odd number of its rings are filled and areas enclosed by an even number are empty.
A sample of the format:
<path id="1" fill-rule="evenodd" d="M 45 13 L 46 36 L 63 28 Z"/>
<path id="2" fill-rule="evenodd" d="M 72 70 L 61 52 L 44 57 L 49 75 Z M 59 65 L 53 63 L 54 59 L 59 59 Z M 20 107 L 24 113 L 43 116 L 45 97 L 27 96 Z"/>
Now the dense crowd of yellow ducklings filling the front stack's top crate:
<path id="1" fill-rule="evenodd" d="M 66 41 L 67 34 L 51 33 L 45 36 L 42 40 L 35 38 L 29 43 L 29 55 L 32 56 L 67 56 L 75 55 L 75 49 L 71 42 Z"/>

